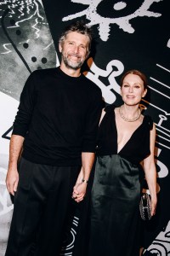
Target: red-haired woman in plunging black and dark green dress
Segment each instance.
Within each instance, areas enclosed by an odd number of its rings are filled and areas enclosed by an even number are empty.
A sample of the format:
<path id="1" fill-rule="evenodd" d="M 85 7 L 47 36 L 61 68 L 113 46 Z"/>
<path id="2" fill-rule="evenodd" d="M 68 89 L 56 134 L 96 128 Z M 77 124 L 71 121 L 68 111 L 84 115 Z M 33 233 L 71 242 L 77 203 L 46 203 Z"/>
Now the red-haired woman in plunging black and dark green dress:
<path id="1" fill-rule="evenodd" d="M 156 213 L 156 127 L 141 114 L 146 78 L 137 70 L 122 77 L 120 108 L 105 108 L 99 125 L 92 189 L 89 256 L 139 255 L 139 200 L 142 166 Z M 141 166 L 142 163 L 142 166 Z"/>

